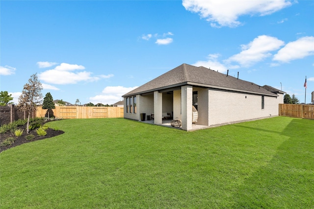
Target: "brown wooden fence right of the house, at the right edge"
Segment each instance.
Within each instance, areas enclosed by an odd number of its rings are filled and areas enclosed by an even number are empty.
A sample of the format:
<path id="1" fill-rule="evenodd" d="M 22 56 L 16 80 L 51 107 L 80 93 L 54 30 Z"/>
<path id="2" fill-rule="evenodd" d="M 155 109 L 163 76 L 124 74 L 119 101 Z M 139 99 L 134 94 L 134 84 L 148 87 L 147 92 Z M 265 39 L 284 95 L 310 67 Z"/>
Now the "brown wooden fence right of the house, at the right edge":
<path id="1" fill-rule="evenodd" d="M 314 119 L 314 105 L 279 104 L 279 115 Z"/>

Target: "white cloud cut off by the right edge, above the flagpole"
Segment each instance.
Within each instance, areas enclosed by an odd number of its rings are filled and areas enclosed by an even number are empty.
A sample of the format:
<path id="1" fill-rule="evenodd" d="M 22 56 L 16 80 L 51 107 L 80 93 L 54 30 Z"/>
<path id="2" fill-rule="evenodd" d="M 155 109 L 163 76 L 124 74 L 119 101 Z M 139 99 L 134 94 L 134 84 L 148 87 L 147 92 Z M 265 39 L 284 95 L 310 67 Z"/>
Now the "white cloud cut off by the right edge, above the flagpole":
<path id="1" fill-rule="evenodd" d="M 284 48 L 274 55 L 273 60 L 289 62 L 294 59 L 302 59 L 314 54 L 314 36 L 305 36 L 296 41 L 289 42 Z"/>

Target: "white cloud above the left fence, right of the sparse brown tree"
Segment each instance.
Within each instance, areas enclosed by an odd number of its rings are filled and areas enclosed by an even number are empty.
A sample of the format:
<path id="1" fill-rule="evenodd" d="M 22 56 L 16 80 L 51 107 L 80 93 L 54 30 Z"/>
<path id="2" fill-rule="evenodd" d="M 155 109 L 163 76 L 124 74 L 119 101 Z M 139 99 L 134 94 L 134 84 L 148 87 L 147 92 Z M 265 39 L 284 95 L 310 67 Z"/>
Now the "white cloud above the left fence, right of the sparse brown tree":
<path id="1" fill-rule="evenodd" d="M 69 72 L 85 69 L 82 65 L 61 63 L 52 70 L 47 70 L 38 74 L 38 78 L 44 82 L 52 84 L 75 84 L 80 81 L 96 81 L 101 78 L 111 78 L 113 74 L 92 76 L 92 72 Z"/>

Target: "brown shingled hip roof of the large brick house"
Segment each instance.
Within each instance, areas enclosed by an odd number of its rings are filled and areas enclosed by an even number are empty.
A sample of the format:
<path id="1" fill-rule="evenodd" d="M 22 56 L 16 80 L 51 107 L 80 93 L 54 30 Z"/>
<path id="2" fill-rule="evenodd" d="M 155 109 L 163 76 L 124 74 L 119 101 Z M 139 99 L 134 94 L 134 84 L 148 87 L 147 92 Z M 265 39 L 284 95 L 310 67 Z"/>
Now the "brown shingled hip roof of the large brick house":
<path id="1" fill-rule="evenodd" d="M 166 89 L 175 90 L 176 88 L 179 88 L 183 85 L 209 87 L 274 97 L 278 96 L 277 94 L 272 93 L 255 83 L 237 79 L 232 76 L 227 77 L 226 74 L 210 70 L 203 66 L 195 67 L 188 64 L 182 64 L 173 70 L 170 70 L 167 73 L 130 91 L 122 97 L 144 94 L 152 91 L 162 91 Z"/>

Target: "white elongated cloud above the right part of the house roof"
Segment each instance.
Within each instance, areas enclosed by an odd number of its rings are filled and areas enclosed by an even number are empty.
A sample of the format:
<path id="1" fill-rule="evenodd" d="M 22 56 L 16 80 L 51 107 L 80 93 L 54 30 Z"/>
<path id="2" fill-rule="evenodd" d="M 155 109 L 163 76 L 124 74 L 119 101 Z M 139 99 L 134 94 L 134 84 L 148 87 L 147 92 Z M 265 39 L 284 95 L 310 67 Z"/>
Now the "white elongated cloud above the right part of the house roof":
<path id="1" fill-rule="evenodd" d="M 264 58 L 271 56 L 271 51 L 279 49 L 284 42 L 271 36 L 261 35 L 247 45 L 241 45 L 242 52 L 235 54 L 225 60 L 226 62 L 237 62 L 243 67 L 249 67 Z"/>

